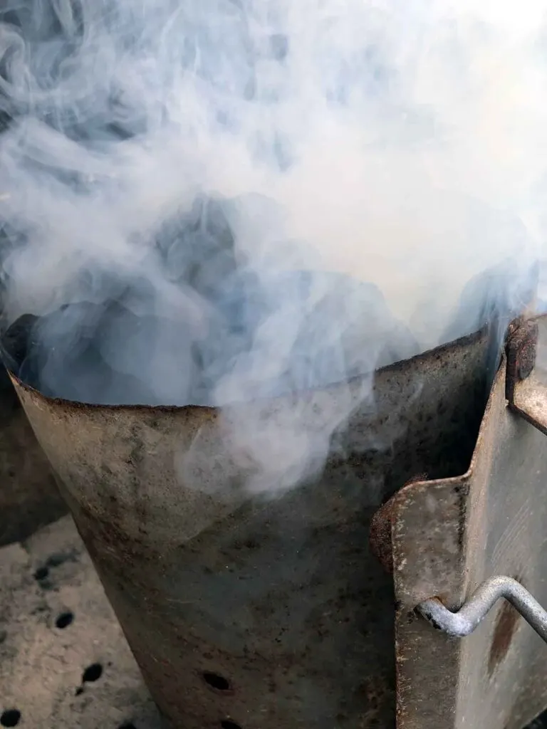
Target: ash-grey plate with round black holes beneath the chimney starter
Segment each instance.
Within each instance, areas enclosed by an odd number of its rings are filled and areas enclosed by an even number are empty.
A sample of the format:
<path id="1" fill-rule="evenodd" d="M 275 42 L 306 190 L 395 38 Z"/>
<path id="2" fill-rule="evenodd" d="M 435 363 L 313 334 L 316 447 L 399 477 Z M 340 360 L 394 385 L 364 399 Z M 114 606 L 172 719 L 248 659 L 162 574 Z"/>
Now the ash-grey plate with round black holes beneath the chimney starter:
<path id="1" fill-rule="evenodd" d="M 0 550 L 0 727 L 160 727 L 69 517 Z"/>

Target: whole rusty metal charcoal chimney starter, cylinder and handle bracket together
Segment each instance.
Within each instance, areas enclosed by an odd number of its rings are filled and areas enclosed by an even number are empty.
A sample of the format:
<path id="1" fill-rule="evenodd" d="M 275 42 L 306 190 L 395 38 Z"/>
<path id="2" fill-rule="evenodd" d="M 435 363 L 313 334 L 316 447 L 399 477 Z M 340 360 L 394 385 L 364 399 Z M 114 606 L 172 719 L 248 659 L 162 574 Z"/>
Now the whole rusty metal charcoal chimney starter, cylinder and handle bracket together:
<path id="1" fill-rule="evenodd" d="M 542 645 L 518 613 L 496 652 L 497 607 L 465 639 L 415 610 L 457 609 L 500 572 L 547 601 L 544 500 L 532 508 L 547 455 L 521 416 L 534 327 L 513 324 L 519 351 L 489 393 L 486 330 L 381 368 L 376 408 L 353 413 L 320 477 L 276 499 L 215 488 L 233 465 L 215 452 L 215 408 L 86 405 L 11 375 L 168 726 L 519 729 L 543 709 Z M 201 490 L 177 468 L 197 434 L 221 464 Z M 392 445 L 362 447 L 377 442 Z"/>

